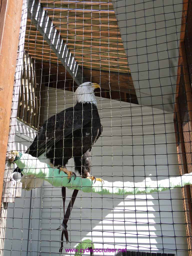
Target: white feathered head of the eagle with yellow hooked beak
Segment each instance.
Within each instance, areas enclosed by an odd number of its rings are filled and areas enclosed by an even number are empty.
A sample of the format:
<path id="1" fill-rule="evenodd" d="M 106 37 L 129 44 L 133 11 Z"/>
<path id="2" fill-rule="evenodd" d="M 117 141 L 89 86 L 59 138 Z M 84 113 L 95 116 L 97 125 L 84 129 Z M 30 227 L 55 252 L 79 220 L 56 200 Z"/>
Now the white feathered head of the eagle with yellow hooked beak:
<path id="1" fill-rule="evenodd" d="M 74 93 L 74 99 L 76 102 L 82 103 L 91 103 L 97 106 L 97 102 L 94 95 L 94 90 L 100 88 L 99 84 L 85 82 L 78 86 L 77 90 Z"/>

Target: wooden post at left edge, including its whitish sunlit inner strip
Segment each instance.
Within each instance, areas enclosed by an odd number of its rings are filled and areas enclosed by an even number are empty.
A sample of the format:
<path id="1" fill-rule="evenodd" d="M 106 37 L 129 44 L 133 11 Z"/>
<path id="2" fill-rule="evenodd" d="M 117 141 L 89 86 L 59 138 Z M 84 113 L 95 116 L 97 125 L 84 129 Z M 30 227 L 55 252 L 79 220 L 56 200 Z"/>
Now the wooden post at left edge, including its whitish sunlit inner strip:
<path id="1" fill-rule="evenodd" d="M 0 200 L 2 200 L 2 188 L 4 177 L 8 178 L 8 173 L 5 170 L 5 158 L 7 152 L 7 143 L 9 142 L 9 148 L 13 148 L 14 141 L 14 129 L 16 123 L 17 113 L 17 97 L 18 97 L 18 74 L 19 74 L 19 58 L 17 56 L 17 50 L 23 54 L 25 33 L 20 33 L 19 28 L 22 14 L 22 0 L 2 0 L 0 9 Z M 26 0 L 24 0 L 25 4 Z M 27 13 L 27 6 L 23 7 L 23 12 Z M 27 18 L 27 17 L 26 17 Z M 26 19 L 25 18 L 25 19 Z M 23 21 L 24 22 L 24 21 Z M 25 20 L 26 24 L 26 20 Z M 24 26 L 25 28 L 25 26 Z M 23 25 L 21 25 L 21 32 L 23 31 Z M 22 37 L 22 38 L 21 38 Z M 20 40 L 19 40 L 20 39 Z M 19 42 L 19 48 L 18 48 Z M 22 43 L 23 42 L 23 43 Z M 19 54 L 18 53 L 18 54 Z M 17 68 L 16 68 L 16 59 Z M 16 77 L 15 77 L 16 71 Z M 13 95 L 13 86 L 15 88 Z M 13 119 L 10 122 L 10 116 L 12 114 Z M 8 135 L 12 134 L 11 136 Z M 9 169 L 9 166 L 6 167 Z M 6 175 L 5 175 L 6 174 Z M 0 212 L 0 256 L 3 255 L 4 237 L 6 227 L 7 205 L 1 204 Z"/>

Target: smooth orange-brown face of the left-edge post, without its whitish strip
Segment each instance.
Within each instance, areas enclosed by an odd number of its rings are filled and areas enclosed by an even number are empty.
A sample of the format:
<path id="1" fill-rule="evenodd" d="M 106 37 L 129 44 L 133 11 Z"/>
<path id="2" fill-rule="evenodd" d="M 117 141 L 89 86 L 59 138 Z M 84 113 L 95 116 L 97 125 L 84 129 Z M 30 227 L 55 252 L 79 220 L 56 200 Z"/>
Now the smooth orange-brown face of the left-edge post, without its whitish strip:
<path id="1" fill-rule="evenodd" d="M 0 9 L 0 200 L 2 198 L 5 158 L 10 129 L 22 2 L 22 0 L 2 0 Z M 3 207 L 1 207 L 1 216 L 2 212 L 4 212 Z M 4 221 L 4 217 L 0 218 L 0 255 L 3 255 Z"/>

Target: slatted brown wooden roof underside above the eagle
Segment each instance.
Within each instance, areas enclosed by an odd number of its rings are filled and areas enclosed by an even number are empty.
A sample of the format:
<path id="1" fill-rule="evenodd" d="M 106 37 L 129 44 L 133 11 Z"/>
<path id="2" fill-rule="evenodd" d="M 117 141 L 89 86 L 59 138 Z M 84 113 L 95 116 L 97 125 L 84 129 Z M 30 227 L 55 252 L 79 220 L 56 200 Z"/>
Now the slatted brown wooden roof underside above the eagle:
<path id="1" fill-rule="evenodd" d="M 126 78 L 121 78 L 121 82 L 117 82 L 113 89 L 118 90 L 120 85 L 123 92 L 127 93 L 128 90 L 132 90 L 131 93 L 135 94 L 133 81 L 130 82 L 127 57 L 111 2 L 105 0 L 94 0 L 93 3 L 90 0 L 76 2 L 40 0 L 40 3 L 78 65 L 82 67 L 82 70 L 87 70 L 84 75 L 89 77 L 92 70 L 95 70 L 94 75 L 98 74 L 98 78 L 95 78 L 96 81 L 100 79 L 99 73 L 101 72 L 105 72 L 107 76 L 110 71 L 110 77 L 111 73 L 116 72 L 118 73 L 116 79 L 120 73 L 124 73 Z M 60 66 L 61 64 L 57 52 L 52 51 L 36 26 L 31 24 L 30 19 L 27 20 L 25 49 L 29 55 L 35 58 L 36 62 L 43 61 L 43 63 L 47 63 L 47 66 Z M 66 77 L 66 75 L 65 71 L 64 76 Z M 60 76 L 63 79 L 63 75 L 60 74 Z M 105 75 L 102 74 L 102 76 L 104 79 Z M 113 75 L 113 79 L 115 79 L 115 75 Z M 108 87 L 106 82 L 106 88 Z"/>

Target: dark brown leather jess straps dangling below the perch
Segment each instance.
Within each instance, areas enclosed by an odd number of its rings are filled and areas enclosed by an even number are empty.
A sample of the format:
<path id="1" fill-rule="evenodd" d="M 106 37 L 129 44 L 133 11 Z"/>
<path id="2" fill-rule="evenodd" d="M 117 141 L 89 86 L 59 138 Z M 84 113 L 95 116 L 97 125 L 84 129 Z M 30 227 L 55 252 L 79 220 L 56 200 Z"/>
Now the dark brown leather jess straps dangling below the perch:
<path id="1" fill-rule="evenodd" d="M 64 214 L 64 218 L 63 218 L 63 223 L 61 224 L 62 226 L 62 233 L 61 233 L 61 247 L 59 249 L 59 252 L 61 253 L 63 250 L 63 234 L 65 236 L 66 242 L 69 242 L 69 237 L 68 237 L 68 232 L 67 232 L 67 222 L 69 220 L 70 214 L 71 214 L 71 210 L 73 208 L 73 204 L 74 201 L 76 199 L 77 193 L 79 190 L 74 189 L 71 200 L 69 202 L 69 205 L 67 207 L 66 213 L 65 213 L 65 199 L 66 199 L 66 187 L 62 187 L 61 189 L 62 191 L 62 199 L 63 199 L 63 214 Z"/>

